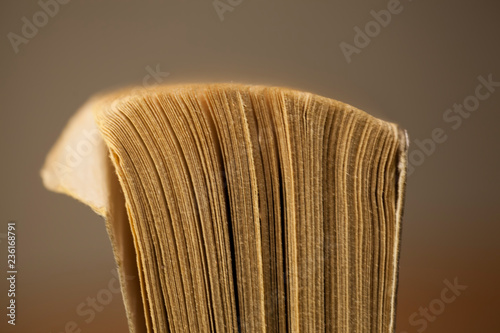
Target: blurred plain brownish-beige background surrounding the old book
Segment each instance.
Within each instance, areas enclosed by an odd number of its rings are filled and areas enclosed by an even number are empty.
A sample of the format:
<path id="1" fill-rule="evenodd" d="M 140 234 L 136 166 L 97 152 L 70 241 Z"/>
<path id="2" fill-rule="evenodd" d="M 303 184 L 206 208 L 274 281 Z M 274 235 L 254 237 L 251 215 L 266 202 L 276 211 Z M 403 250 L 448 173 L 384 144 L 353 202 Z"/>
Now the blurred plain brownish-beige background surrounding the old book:
<path id="1" fill-rule="evenodd" d="M 170 73 L 165 83 L 241 81 L 336 98 L 400 123 L 412 140 L 443 128 L 447 141 L 408 179 L 396 331 L 423 328 L 410 316 L 457 277 L 468 288 L 424 331 L 499 332 L 500 88 L 459 129 L 442 117 L 474 93 L 477 76 L 500 81 L 500 6 L 402 0 L 403 11 L 348 64 L 339 43 L 352 43 L 353 28 L 387 3 L 243 0 L 221 22 L 211 1 L 72 1 L 15 54 L 7 34 L 20 34 L 22 17 L 40 6 L 2 1 L 0 237 L 16 220 L 19 274 L 15 329 L 0 283 L 0 331 L 64 332 L 69 321 L 82 332 L 126 331 L 118 295 L 90 323 L 77 314 L 113 279 L 111 247 L 102 219 L 46 191 L 38 171 L 90 95 L 140 84 L 159 65 Z"/>

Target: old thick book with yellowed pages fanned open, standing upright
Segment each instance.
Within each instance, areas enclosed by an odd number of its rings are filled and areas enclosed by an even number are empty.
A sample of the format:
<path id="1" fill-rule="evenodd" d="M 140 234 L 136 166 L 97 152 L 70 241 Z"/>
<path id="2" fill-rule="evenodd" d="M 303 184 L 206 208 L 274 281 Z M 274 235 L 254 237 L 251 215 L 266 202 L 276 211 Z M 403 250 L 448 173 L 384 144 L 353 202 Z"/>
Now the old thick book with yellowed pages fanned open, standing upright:
<path id="1" fill-rule="evenodd" d="M 288 88 L 91 98 L 45 186 L 105 218 L 130 332 L 393 332 L 408 140 Z"/>

